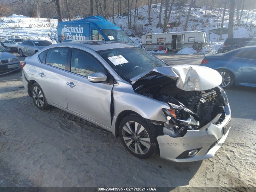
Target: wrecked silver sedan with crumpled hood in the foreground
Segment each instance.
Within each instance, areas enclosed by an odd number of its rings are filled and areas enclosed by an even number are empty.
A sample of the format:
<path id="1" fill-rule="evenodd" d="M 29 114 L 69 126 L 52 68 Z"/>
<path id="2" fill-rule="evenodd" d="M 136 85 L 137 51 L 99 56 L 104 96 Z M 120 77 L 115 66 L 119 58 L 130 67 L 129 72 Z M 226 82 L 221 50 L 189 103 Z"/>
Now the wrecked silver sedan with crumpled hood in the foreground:
<path id="1" fill-rule="evenodd" d="M 230 129 L 222 78 L 210 68 L 168 66 L 142 48 L 110 41 L 54 44 L 22 65 L 37 108 L 56 106 L 105 128 L 138 158 L 211 158 Z"/>

